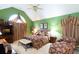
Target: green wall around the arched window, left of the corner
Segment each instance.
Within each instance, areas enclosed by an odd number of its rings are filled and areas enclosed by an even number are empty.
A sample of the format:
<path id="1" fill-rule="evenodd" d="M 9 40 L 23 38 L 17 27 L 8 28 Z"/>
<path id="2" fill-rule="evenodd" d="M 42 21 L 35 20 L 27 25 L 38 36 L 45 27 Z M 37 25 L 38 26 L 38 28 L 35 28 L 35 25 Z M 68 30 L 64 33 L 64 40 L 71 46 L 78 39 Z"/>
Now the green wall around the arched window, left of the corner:
<path id="1" fill-rule="evenodd" d="M 23 16 L 27 22 L 27 34 L 31 34 L 31 28 L 32 28 L 32 21 L 31 19 L 25 14 L 24 11 L 16 9 L 14 7 L 6 8 L 6 9 L 1 9 L 0 10 L 0 19 L 4 19 L 7 21 L 9 17 L 13 14 L 18 14 L 18 12 Z"/>

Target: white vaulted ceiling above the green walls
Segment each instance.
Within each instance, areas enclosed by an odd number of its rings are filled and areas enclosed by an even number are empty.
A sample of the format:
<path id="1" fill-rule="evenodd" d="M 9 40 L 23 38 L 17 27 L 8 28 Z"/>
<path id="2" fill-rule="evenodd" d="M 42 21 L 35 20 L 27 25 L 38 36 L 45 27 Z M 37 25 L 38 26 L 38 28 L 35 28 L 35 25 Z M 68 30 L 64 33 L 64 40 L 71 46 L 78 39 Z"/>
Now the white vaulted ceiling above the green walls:
<path id="1" fill-rule="evenodd" d="M 38 12 L 29 9 L 28 4 L 0 4 L 0 9 L 15 7 L 23 10 L 32 21 L 79 12 L 79 4 L 40 4 Z"/>

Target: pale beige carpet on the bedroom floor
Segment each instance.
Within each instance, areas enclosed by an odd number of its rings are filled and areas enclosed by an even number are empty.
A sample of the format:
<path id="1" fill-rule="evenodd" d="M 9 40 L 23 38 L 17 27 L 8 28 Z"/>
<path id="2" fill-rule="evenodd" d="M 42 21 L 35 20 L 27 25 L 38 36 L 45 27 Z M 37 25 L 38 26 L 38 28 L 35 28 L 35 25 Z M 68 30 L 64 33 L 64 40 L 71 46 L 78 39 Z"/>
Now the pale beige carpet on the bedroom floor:
<path id="1" fill-rule="evenodd" d="M 18 54 L 48 54 L 49 53 L 49 47 L 51 43 L 48 43 L 41 47 L 40 49 L 35 48 L 27 48 L 25 49 L 22 45 L 18 44 L 18 41 L 11 44 L 12 48 L 18 53 Z"/>

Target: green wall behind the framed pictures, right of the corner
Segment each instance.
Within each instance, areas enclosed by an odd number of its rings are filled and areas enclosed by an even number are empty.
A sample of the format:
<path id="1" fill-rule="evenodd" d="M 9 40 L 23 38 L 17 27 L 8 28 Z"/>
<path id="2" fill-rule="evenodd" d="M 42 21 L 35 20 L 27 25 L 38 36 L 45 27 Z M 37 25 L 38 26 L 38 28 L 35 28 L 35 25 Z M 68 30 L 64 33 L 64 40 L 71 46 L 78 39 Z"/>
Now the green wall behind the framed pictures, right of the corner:
<path id="1" fill-rule="evenodd" d="M 77 13 L 72 13 L 72 14 L 67 14 L 67 15 L 62 15 L 62 16 L 57 16 L 57 17 L 51 17 L 51 18 L 45 18 L 42 20 L 38 20 L 38 21 L 34 21 L 33 24 L 35 27 L 40 26 L 40 23 L 48 23 L 48 29 L 49 30 L 56 30 L 59 33 L 62 33 L 62 29 L 61 29 L 61 20 L 63 18 L 66 18 L 67 16 L 72 15 L 72 16 L 77 16 L 79 17 L 79 12 Z"/>

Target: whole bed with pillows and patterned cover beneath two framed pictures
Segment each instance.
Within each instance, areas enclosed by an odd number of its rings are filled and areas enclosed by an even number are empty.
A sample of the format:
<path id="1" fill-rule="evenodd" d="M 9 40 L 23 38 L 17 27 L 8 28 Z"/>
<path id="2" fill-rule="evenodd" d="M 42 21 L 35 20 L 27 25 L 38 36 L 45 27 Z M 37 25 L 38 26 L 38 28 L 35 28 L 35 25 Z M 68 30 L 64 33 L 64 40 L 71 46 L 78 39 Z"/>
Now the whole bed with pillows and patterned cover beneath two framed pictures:
<path id="1" fill-rule="evenodd" d="M 49 43 L 48 30 L 38 30 L 35 34 L 26 36 L 25 39 L 31 40 L 34 48 L 39 49 L 45 44 Z"/>

